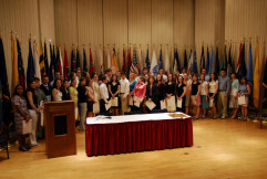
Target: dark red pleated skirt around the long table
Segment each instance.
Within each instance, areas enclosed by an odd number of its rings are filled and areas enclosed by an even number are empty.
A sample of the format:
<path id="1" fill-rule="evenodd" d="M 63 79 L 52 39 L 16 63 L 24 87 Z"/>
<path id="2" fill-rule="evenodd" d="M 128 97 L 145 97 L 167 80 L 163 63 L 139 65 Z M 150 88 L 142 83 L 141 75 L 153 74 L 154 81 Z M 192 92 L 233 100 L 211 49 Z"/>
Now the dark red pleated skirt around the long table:
<path id="1" fill-rule="evenodd" d="M 192 118 L 86 125 L 86 155 L 193 146 Z"/>

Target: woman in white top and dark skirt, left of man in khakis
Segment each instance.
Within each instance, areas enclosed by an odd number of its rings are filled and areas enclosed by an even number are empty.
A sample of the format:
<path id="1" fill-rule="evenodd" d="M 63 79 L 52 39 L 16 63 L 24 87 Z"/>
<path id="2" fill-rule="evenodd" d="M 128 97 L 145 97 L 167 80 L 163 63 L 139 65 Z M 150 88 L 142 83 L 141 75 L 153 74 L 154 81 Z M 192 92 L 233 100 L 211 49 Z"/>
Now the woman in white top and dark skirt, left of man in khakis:
<path id="1" fill-rule="evenodd" d="M 216 78 L 215 73 L 210 74 L 208 87 L 209 87 L 208 88 L 208 98 L 209 98 L 209 101 L 213 101 L 212 115 L 213 115 L 213 119 L 216 119 L 217 118 L 216 104 L 218 101 L 218 81 Z"/>

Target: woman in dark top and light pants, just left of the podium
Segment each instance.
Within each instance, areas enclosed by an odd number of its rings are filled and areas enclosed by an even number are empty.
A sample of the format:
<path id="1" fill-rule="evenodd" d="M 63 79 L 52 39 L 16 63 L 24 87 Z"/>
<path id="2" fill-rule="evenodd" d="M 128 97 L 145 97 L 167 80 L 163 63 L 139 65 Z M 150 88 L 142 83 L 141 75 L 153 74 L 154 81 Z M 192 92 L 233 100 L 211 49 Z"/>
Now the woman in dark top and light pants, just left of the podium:
<path id="1" fill-rule="evenodd" d="M 32 130 L 30 133 L 30 143 L 31 146 L 38 146 L 37 143 L 37 123 L 38 123 L 38 116 L 41 113 L 41 107 L 38 105 L 38 97 L 34 93 L 35 91 L 35 82 L 30 81 L 28 84 L 27 90 L 27 105 L 29 106 L 30 116 L 32 119 Z"/>

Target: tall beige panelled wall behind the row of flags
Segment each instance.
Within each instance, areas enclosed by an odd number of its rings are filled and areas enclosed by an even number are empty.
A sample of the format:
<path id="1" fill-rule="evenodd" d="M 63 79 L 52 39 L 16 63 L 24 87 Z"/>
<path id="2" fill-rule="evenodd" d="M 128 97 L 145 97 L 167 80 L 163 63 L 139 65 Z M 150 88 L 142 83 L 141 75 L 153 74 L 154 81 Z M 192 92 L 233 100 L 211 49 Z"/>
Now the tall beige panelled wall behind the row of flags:
<path id="1" fill-rule="evenodd" d="M 100 71 L 96 50 L 116 48 L 119 64 L 122 66 L 123 45 L 142 46 L 143 59 L 146 49 L 157 50 L 162 44 L 173 61 L 173 48 L 177 46 L 183 59 L 196 46 L 199 62 L 201 46 L 233 43 L 236 64 L 239 43 L 246 38 L 246 61 L 248 41 L 251 38 L 255 60 L 256 36 L 260 42 L 260 66 L 266 56 L 267 1 L 266 0 L 0 0 L 0 33 L 3 39 L 9 81 L 11 80 L 10 31 L 18 33 L 22 43 L 24 67 L 28 60 L 28 39 L 30 33 L 40 40 L 66 48 L 68 59 L 71 49 L 92 48 L 95 69 Z M 48 51 L 49 52 L 49 51 Z M 222 48 L 220 51 L 222 53 Z M 164 60 L 164 59 L 163 59 Z M 105 63 L 106 64 L 106 63 Z M 183 61 L 181 61 L 183 65 Z M 260 71 L 263 73 L 263 70 Z"/>

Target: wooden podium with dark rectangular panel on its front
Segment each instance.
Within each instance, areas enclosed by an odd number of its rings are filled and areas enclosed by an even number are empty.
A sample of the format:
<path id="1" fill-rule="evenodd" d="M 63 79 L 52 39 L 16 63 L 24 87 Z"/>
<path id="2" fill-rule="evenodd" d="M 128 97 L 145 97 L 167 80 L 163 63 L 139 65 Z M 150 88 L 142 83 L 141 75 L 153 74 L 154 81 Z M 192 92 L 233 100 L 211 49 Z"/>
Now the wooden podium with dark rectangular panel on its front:
<path id="1" fill-rule="evenodd" d="M 76 155 L 74 102 L 45 102 L 44 122 L 48 158 Z"/>

